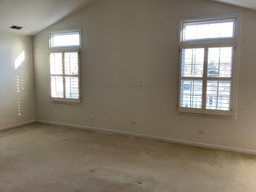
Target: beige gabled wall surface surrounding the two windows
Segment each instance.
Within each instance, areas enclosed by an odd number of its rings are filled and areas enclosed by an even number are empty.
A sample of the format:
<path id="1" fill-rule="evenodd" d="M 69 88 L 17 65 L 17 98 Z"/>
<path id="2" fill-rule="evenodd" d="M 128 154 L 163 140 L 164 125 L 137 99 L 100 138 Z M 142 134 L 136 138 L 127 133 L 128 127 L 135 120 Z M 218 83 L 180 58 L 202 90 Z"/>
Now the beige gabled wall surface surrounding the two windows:
<path id="1" fill-rule="evenodd" d="M 236 120 L 176 114 L 178 19 L 229 13 L 242 13 Z M 36 119 L 256 150 L 255 23 L 206 0 L 96 0 L 34 36 Z M 77 27 L 83 105 L 50 103 L 48 30 Z"/>

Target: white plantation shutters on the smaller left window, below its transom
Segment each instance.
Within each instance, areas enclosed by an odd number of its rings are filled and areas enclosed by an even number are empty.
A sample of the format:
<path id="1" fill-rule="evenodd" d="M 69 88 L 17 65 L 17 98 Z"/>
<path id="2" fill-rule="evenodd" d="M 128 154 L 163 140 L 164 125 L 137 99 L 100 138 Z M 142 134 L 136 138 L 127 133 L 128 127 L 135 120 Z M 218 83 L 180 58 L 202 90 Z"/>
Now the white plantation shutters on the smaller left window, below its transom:
<path id="1" fill-rule="evenodd" d="M 79 50 L 50 50 L 52 101 L 81 102 Z"/>

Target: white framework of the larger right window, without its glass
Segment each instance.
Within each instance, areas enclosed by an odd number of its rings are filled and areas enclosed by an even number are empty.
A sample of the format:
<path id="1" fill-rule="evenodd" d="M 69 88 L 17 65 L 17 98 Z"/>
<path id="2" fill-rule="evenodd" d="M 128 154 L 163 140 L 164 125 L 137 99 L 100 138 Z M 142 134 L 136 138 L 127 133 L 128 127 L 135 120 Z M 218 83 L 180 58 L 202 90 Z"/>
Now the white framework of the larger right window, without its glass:
<path id="1" fill-rule="evenodd" d="M 200 39 L 200 40 L 183 40 L 184 39 L 184 24 L 197 23 L 197 22 L 215 22 L 219 20 L 235 20 L 235 24 L 233 27 L 233 37 L 228 38 L 208 38 L 208 39 Z M 179 20 L 179 37 L 178 37 L 178 72 L 177 72 L 177 80 L 178 80 L 178 88 L 177 88 L 177 106 L 176 106 L 176 114 L 183 115 L 192 115 L 192 116 L 205 116 L 205 117 L 214 117 L 214 118 L 228 118 L 235 119 L 236 118 L 236 93 L 237 93 L 237 82 L 238 82 L 238 60 L 239 60 L 239 43 L 240 43 L 240 21 L 241 14 L 226 14 L 219 16 L 208 16 L 208 17 L 197 17 L 197 18 L 183 18 Z M 201 108 L 188 108 L 188 107 L 180 107 L 180 88 L 181 88 L 181 50 L 182 48 L 204 48 L 205 54 L 208 54 L 208 47 L 219 47 L 219 46 L 229 46 L 233 47 L 234 54 L 232 60 L 232 76 L 231 80 L 231 90 L 230 90 L 230 110 L 210 110 L 206 109 L 206 87 L 207 87 L 207 56 L 205 56 L 204 60 L 204 76 L 201 78 L 203 82 L 203 92 L 202 92 L 202 109 Z M 186 79 L 186 78 L 185 78 Z M 195 80 L 197 78 L 194 78 Z M 200 78 L 198 78 L 200 79 Z M 211 80 L 211 78 L 209 78 Z M 215 80 L 219 80 L 222 78 L 215 78 Z"/>

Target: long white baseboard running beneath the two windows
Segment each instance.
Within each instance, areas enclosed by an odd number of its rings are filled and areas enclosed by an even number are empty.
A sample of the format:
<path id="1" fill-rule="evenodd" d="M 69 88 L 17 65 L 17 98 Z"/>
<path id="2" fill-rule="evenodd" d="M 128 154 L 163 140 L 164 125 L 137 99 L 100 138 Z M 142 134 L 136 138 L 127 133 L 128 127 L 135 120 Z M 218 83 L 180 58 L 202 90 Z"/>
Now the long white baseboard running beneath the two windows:
<path id="1" fill-rule="evenodd" d="M 36 122 L 44 123 L 44 124 L 71 127 L 71 128 L 80 128 L 80 129 L 86 129 L 86 130 L 114 133 L 114 134 L 130 135 L 130 136 L 136 136 L 136 137 L 142 137 L 142 138 L 148 138 L 148 139 L 154 139 L 154 140 L 161 140 L 161 141 L 167 141 L 167 142 L 173 142 L 173 143 L 179 143 L 179 144 L 186 144 L 186 145 L 203 147 L 203 148 L 210 148 L 210 149 L 217 149 L 217 150 L 224 150 L 224 151 L 231 151 L 231 152 L 238 152 L 238 153 L 246 153 L 246 154 L 256 155 L 256 151 L 254 151 L 254 150 L 247 150 L 247 149 L 241 149 L 241 148 L 233 148 L 233 147 L 227 147 L 227 146 L 212 145 L 212 144 L 198 143 L 198 142 L 178 140 L 178 139 L 165 138 L 165 137 L 158 137 L 158 136 L 152 136 L 152 135 L 144 135 L 144 134 L 138 134 L 138 133 L 131 133 L 131 132 L 124 132 L 124 131 L 96 128 L 96 127 L 88 127 L 88 126 L 81 126 L 81 125 L 74 125 L 74 124 L 50 122 L 50 121 L 43 121 L 43 120 L 36 120 Z"/>

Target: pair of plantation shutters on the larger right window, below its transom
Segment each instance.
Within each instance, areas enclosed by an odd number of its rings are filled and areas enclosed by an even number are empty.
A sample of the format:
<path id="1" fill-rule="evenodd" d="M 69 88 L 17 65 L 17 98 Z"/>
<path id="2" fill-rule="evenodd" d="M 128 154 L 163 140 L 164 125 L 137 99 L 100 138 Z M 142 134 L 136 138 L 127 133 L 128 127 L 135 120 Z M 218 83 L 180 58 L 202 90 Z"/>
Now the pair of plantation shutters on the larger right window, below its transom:
<path id="1" fill-rule="evenodd" d="M 232 116 L 235 44 L 180 48 L 178 111 Z"/>

